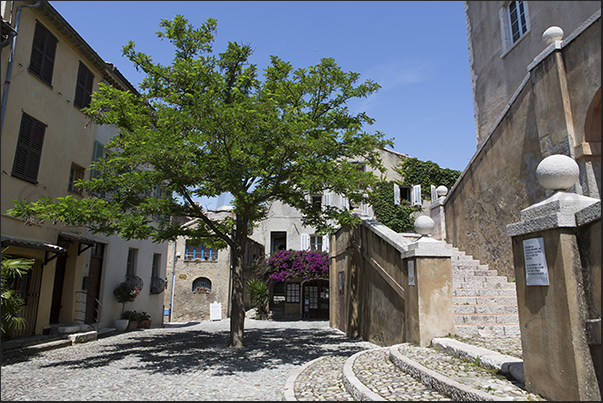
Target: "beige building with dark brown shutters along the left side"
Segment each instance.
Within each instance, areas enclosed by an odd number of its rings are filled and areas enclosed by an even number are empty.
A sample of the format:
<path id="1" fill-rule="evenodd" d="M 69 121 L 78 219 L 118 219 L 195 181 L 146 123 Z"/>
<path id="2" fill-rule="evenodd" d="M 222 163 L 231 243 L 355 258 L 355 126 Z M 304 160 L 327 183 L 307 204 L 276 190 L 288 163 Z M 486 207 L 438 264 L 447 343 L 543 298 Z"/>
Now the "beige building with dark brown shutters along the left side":
<path id="1" fill-rule="evenodd" d="M 127 308 L 146 311 L 161 325 L 167 244 L 127 242 L 7 214 L 12 200 L 87 197 L 74 182 L 90 178 L 95 154 L 105 152 L 102 145 L 117 132 L 91 123 L 81 109 L 101 82 L 136 89 L 47 1 L 2 1 L 1 11 L 2 248 L 35 259 L 15 285 L 26 296 L 27 326 L 10 337 L 49 333 L 60 325 L 112 327 L 121 312 L 113 289 L 127 271 L 143 284 Z"/>

